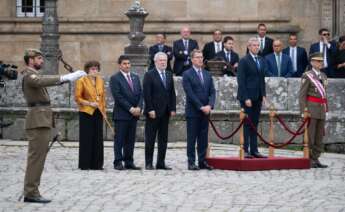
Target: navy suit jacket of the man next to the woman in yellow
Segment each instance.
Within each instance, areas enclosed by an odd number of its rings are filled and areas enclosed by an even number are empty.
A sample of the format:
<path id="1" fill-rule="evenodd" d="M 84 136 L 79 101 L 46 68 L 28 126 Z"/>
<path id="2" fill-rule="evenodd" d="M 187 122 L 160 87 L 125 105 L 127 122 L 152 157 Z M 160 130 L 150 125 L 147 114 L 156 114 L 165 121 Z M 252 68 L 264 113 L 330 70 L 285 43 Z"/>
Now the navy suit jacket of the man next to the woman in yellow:
<path id="1" fill-rule="evenodd" d="M 114 98 L 113 120 L 136 120 L 129 112 L 131 107 L 143 108 L 143 97 L 139 76 L 131 73 L 134 92 L 127 79 L 119 71 L 110 78 L 110 90 Z"/>

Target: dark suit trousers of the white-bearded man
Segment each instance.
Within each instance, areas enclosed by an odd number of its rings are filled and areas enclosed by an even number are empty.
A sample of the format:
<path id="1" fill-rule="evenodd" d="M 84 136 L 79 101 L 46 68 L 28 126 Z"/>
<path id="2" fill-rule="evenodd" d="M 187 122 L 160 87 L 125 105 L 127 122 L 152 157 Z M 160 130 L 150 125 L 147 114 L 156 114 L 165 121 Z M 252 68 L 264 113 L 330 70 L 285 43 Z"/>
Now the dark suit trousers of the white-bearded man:
<path id="1" fill-rule="evenodd" d="M 168 145 L 168 127 L 169 127 L 168 114 L 162 117 L 151 119 L 146 117 L 145 122 L 145 164 L 152 165 L 153 152 L 155 148 L 155 140 L 158 135 L 158 154 L 157 166 L 165 165 L 165 155 Z"/>

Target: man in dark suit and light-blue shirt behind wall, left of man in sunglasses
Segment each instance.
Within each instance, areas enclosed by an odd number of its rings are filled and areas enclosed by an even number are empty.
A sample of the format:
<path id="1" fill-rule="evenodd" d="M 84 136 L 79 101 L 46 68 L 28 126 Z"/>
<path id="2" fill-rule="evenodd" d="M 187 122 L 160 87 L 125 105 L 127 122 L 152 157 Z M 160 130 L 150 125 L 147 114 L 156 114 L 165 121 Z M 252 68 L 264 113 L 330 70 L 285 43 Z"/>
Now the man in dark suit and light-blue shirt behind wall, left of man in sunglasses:
<path id="1" fill-rule="evenodd" d="M 283 53 L 291 58 L 293 75 L 292 77 L 301 77 L 308 66 L 308 55 L 305 48 L 297 46 L 297 34 L 289 35 L 289 47 L 283 49 Z"/>

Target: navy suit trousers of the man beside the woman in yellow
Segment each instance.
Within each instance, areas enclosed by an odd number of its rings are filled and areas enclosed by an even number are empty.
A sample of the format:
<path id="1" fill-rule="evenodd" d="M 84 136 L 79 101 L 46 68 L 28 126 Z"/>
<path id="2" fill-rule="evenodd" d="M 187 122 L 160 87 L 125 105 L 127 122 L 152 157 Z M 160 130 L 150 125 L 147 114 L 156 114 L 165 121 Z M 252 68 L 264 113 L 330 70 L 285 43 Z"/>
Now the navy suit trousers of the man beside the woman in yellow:
<path id="1" fill-rule="evenodd" d="M 115 120 L 114 136 L 114 165 L 125 162 L 125 165 L 133 164 L 133 153 L 137 120 Z"/>

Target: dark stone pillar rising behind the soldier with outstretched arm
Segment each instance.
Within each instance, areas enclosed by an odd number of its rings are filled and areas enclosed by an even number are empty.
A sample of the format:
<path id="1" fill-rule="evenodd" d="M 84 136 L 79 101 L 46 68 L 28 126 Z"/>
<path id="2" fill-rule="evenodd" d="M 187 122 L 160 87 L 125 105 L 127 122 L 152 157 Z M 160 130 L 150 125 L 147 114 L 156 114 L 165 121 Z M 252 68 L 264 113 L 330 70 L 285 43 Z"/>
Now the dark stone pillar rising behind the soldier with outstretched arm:
<path id="1" fill-rule="evenodd" d="M 58 0 L 46 0 L 42 18 L 41 51 L 45 56 L 43 73 L 58 74 L 59 61 L 59 21 L 57 16 Z"/>

